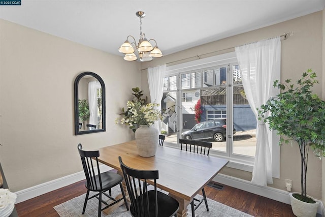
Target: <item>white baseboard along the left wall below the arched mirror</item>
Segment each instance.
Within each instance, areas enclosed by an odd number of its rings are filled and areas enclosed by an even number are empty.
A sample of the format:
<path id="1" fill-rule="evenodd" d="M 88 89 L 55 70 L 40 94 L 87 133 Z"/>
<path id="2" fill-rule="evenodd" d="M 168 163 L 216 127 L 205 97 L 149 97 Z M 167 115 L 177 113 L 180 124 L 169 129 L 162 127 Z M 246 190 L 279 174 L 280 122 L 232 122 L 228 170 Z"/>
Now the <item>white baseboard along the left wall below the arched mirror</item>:
<path id="1" fill-rule="evenodd" d="M 100 166 L 101 172 L 106 172 L 111 169 L 112 169 L 111 167 L 108 167 L 106 165 Z M 15 192 L 15 194 L 17 195 L 15 204 L 46 194 L 48 192 L 65 187 L 69 184 L 73 184 L 83 179 L 85 179 L 85 174 L 83 171 L 81 171 L 81 172 L 74 173 L 72 175 L 67 175 L 52 181 L 38 184 L 28 189 L 23 189 L 21 191 Z"/>

